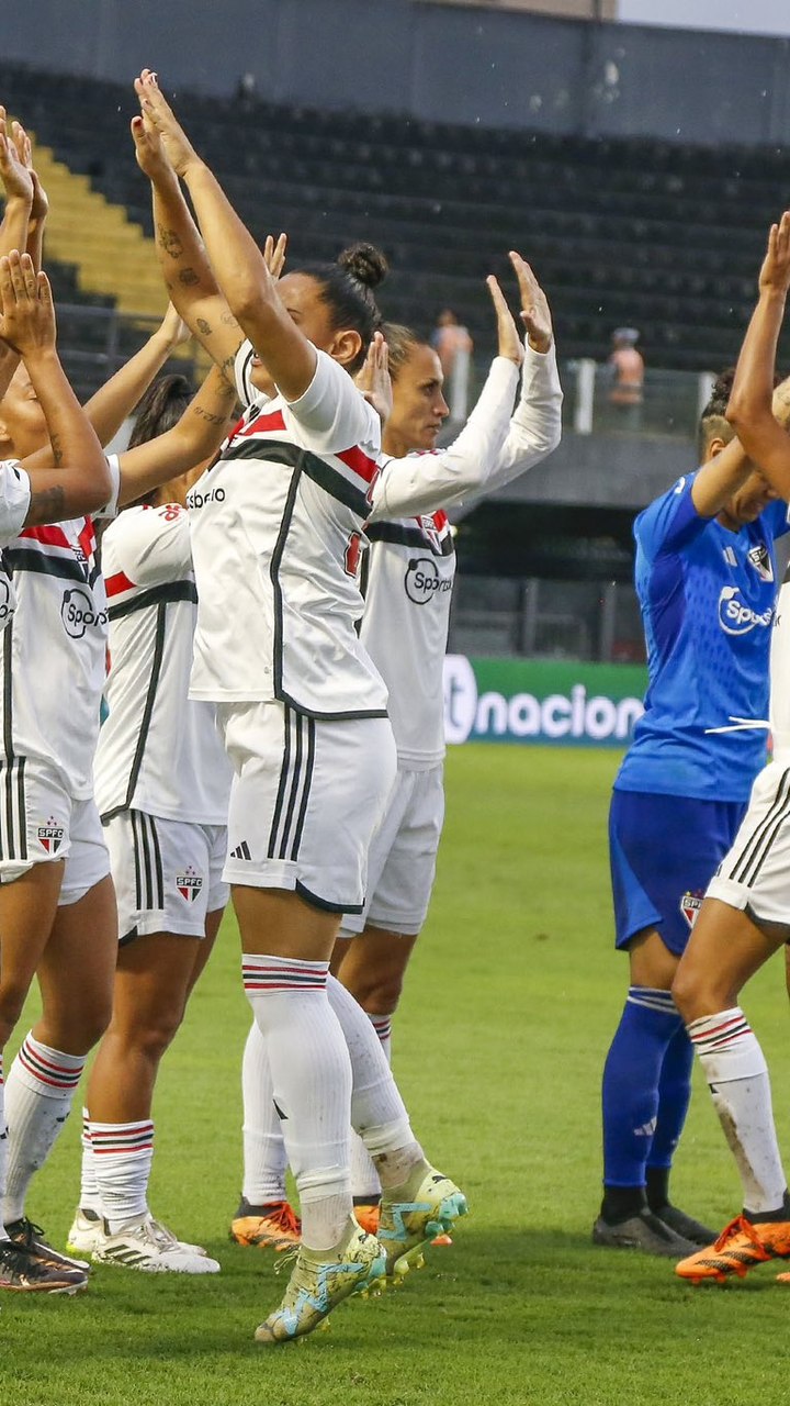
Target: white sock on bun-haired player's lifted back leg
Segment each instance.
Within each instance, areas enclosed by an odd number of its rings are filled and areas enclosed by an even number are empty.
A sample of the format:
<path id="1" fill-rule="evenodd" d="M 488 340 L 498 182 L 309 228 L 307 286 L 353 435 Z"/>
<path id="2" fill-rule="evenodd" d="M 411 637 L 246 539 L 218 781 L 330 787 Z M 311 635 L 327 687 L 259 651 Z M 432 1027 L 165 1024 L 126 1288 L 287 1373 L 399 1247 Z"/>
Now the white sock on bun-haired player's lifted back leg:
<path id="1" fill-rule="evenodd" d="M 381 1185 L 401 1185 L 415 1164 L 425 1160 L 423 1150 L 412 1132 L 381 1042 L 361 1005 L 333 976 L 326 990 L 351 1057 L 351 1126 L 373 1157 Z"/>

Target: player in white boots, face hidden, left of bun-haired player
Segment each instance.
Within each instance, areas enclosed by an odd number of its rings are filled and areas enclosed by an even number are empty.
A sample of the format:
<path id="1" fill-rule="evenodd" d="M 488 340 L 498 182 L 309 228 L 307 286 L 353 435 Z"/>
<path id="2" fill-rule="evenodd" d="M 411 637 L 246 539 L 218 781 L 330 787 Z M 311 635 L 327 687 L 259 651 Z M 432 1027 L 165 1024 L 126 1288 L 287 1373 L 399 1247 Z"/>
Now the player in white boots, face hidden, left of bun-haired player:
<path id="1" fill-rule="evenodd" d="M 129 450 L 171 427 L 191 398 L 180 375 L 156 382 Z M 202 468 L 121 512 L 101 543 L 111 668 L 94 778 L 119 948 L 112 1019 L 86 1094 L 80 1202 L 67 1244 L 101 1264 L 181 1274 L 219 1268 L 148 1205 L 159 1062 L 228 901 L 221 873 L 231 768 L 214 707 L 187 697 L 197 591 L 184 499 Z M 90 1118 L 97 1099 L 101 1122 Z"/>

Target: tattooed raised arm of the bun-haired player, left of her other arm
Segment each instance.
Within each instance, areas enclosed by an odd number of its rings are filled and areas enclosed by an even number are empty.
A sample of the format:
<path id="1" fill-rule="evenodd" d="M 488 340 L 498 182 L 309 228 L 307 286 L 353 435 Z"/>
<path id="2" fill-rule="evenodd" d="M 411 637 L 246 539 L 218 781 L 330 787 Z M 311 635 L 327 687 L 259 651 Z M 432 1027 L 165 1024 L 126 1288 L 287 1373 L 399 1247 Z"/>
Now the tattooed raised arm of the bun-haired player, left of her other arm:
<path id="1" fill-rule="evenodd" d="M 231 377 L 245 333 L 219 291 L 167 149 L 146 112 L 132 120 L 132 138 L 138 166 L 150 180 L 156 257 L 170 301 L 212 361 Z"/>

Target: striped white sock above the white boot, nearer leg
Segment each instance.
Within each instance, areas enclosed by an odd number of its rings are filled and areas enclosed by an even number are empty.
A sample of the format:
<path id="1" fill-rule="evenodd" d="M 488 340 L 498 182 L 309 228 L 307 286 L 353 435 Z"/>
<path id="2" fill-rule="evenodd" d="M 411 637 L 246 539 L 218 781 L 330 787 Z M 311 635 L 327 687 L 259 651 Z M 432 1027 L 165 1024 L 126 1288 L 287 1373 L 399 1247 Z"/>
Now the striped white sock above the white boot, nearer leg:
<path id="1" fill-rule="evenodd" d="M 118 1234 L 149 1213 L 153 1123 L 150 1118 L 134 1123 L 97 1123 L 91 1118 L 89 1137 L 101 1213 L 110 1234 Z"/>

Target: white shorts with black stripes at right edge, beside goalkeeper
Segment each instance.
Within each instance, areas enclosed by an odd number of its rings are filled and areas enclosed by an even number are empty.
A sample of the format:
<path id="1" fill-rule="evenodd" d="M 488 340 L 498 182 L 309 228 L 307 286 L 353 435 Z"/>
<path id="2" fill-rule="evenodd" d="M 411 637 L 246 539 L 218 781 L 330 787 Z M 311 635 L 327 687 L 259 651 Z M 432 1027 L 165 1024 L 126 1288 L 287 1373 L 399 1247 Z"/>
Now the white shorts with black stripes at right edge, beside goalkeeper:
<path id="1" fill-rule="evenodd" d="M 713 876 L 708 898 L 749 908 L 765 922 L 790 925 L 790 761 L 758 775 L 732 848 Z"/>

